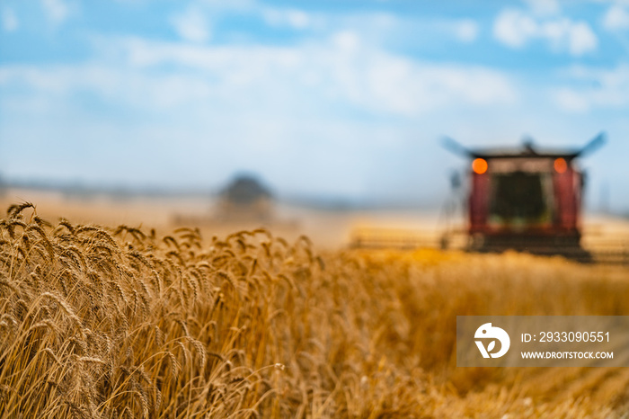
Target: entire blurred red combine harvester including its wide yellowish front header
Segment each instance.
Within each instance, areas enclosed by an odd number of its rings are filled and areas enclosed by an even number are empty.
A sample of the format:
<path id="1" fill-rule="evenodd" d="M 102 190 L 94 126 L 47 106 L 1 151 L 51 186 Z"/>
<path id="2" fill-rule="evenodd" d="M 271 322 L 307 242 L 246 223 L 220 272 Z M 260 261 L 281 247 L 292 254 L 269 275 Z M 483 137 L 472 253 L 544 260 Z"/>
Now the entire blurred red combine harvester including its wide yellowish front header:
<path id="1" fill-rule="evenodd" d="M 444 145 L 470 162 L 463 205 L 460 178 L 452 178 L 456 193 L 439 216 L 446 226 L 434 230 L 354 228 L 350 246 L 515 250 L 562 255 L 580 262 L 629 264 L 629 237 L 622 231 L 610 235 L 604 232 L 606 228 L 597 232 L 590 225 L 582 237 L 584 174 L 577 160 L 602 146 L 605 139 L 600 133 L 585 147 L 552 150 L 535 147 L 530 141 L 522 147 L 468 149 L 446 138 Z M 457 222 L 450 226 L 457 208 L 463 209 L 465 227 L 457 227 Z"/>

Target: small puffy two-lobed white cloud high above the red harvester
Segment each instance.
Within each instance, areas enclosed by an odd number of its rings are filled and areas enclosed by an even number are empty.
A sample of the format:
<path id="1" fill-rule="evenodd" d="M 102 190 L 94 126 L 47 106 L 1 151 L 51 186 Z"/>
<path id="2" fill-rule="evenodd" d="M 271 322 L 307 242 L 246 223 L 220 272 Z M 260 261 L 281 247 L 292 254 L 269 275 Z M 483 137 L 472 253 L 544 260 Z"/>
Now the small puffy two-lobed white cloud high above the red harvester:
<path id="1" fill-rule="evenodd" d="M 530 40 L 545 40 L 555 51 L 581 56 L 598 47 L 598 39 L 587 22 L 567 17 L 538 19 L 520 10 L 502 11 L 493 26 L 493 35 L 510 48 L 522 48 Z"/>

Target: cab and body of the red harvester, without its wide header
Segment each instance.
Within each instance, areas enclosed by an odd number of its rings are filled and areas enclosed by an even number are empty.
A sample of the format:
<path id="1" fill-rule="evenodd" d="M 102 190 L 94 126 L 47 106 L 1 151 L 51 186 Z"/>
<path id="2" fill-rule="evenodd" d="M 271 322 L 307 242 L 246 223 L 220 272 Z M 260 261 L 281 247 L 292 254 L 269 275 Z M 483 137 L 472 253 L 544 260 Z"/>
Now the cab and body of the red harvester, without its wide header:
<path id="1" fill-rule="evenodd" d="M 468 250 L 591 256 L 580 245 L 583 174 L 576 165 L 605 142 L 605 134 L 578 150 L 542 150 L 525 142 L 515 149 L 445 145 L 471 160 L 467 201 Z"/>

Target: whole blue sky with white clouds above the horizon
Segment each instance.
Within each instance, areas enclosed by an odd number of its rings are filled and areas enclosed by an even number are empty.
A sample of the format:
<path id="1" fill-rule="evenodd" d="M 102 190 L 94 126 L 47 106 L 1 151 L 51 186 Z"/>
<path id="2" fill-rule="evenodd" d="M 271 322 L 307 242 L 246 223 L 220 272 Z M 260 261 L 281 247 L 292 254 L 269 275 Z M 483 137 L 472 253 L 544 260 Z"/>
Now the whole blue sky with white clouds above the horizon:
<path id="1" fill-rule="evenodd" d="M 440 146 L 577 147 L 629 210 L 629 0 L 0 0 L 0 174 L 435 205 Z"/>

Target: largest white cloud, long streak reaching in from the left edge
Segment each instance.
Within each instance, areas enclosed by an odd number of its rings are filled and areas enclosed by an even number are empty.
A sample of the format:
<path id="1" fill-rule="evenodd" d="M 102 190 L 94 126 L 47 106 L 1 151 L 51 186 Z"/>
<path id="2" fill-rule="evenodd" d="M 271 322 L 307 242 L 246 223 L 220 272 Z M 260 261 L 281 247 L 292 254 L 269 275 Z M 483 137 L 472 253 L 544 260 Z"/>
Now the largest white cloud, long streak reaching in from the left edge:
<path id="1" fill-rule="evenodd" d="M 518 100 L 514 84 L 500 71 L 396 56 L 373 49 L 351 31 L 323 44 L 290 48 L 117 42 L 117 49 L 127 51 L 122 63 L 4 68 L 0 85 L 20 82 L 55 95 L 94 91 L 120 106 L 160 111 L 211 105 L 289 114 L 343 106 L 412 118 Z M 173 66 L 174 72 L 162 70 Z"/>

